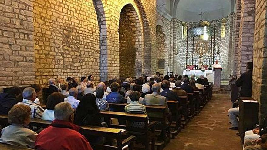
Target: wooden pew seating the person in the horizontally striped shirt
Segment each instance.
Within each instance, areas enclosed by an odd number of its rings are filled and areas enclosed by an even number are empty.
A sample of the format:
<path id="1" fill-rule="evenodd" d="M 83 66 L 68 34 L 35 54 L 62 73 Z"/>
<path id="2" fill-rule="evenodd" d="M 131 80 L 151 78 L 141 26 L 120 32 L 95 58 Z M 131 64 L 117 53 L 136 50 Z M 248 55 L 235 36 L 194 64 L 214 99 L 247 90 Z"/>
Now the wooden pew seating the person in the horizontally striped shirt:
<path id="1" fill-rule="evenodd" d="M 141 133 L 141 134 L 134 134 L 134 135 L 137 136 L 136 140 L 138 142 L 144 143 L 145 149 L 148 149 L 149 142 L 151 139 L 151 150 L 154 150 L 154 147 L 155 147 L 155 136 L 154 136 L 155 128 L 154 127 L 155 127 L 156 122 L 150 121 L 148 123 L 148 115 L 131 114 L 131 113 L 125 113 L 125 112 L 112 112 L 112 111 L 100 111 L 100 112 L 109 127 L 122 128 L 130 132 Z M 125 121 L 130 121 L 130 122 L 144 122 L 144 128 L 134 128 L 134 127 L 130 127 L 127 125 L 114 125 L 111 123 L 110 118 L 123 119 Z M 149 132 L 151 132 L 151 134 L 149 134 Z"/>

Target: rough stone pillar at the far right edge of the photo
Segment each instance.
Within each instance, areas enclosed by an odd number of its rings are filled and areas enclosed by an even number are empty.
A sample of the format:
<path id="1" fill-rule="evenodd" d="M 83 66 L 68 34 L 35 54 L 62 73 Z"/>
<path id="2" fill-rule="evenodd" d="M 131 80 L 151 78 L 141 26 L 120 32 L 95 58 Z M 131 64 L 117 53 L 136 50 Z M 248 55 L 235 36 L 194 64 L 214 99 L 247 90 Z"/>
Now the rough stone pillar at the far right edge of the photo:
<path id="1" fill-rule="evenodd" d="M 266 0 L 256 1 L 252 98 L 259 102 L 259 122 L 267 116 Z"/>

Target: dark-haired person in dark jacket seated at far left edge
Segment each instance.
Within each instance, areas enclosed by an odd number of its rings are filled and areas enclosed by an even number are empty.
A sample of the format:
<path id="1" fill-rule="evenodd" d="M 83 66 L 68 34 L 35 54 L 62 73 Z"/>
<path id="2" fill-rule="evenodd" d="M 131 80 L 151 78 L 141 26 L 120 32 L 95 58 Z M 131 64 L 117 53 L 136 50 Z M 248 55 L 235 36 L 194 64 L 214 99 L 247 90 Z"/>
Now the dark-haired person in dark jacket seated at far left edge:
<path id="1" fill-rule="evenodd" d="M 0 93 L 0 115 L 7 115 L 8 111 L 22 100 L 22 90 L 12 87 L 6 93 Z"/>

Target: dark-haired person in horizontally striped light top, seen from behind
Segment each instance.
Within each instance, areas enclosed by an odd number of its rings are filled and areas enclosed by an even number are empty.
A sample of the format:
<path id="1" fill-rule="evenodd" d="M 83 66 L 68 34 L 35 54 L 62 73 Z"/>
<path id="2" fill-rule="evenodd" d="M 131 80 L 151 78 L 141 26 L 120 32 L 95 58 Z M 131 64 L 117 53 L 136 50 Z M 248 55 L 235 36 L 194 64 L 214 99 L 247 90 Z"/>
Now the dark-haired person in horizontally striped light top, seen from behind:
<path id="1" fill-rule="evenodd" d="M 146 106 L 139 103 L 140 92 L 133 91 L 129 95 L 130 104 L 125 106 L 126 113 L 137 113 L 137 114 L 147 114 Z M 140 128 L 141 125 L 144 125 L 143 122 L 130 122 L 127 121 L 127 126 Z M 144 128 L 144 127 L 143 127 Z"/>

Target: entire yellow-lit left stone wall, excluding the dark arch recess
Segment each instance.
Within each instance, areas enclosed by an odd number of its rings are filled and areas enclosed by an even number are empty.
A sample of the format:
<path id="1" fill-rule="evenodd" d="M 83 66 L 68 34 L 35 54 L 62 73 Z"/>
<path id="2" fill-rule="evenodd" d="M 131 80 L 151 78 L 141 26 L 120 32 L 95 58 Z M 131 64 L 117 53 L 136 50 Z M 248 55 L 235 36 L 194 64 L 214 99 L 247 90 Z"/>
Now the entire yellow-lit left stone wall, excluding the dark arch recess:
<path id="1" fill-rule="evenodd" d="M 156 0 L 2 0 L 0 87 L 44 87 L 51 77 L 119 77 L 119 22 L 127 4 L 139 22 L 134 76 L 155 72 Z"/>

